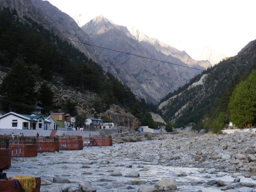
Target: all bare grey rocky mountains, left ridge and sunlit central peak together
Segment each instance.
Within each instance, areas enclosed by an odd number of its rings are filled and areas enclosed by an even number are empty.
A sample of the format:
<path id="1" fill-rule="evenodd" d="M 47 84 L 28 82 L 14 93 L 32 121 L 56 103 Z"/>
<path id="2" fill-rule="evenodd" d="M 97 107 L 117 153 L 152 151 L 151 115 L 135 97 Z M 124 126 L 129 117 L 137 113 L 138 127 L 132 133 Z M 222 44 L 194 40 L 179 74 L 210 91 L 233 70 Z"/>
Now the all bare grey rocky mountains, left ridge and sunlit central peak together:
<path id="1" fill-rule="evenodd" d="M 0 5 L 15 9 L 19 16 L 32 19 L 61 38 L 72 40 L 69 42 L 74 47 L 85 53 L 88 58 L 100 63 L 105 71 L 109 71 L 119 78 L 136 95 L 145 98 L 148 102 L 157 103 L 168 92 L 176 90 L 200 72 L 170 63 L 198 67 L 199 69 L 205 69 L 202 67 L 205 64 L 210 66 L 208 61 L 197 62 L 185 52 L 180 52 L 180 56 L 178 56 L 179 51 L 172 47 L 164 47 L 157 40 L 150 41 L 149 38 L 145 38 L 144 41 L 138 42 L 126 27 L 117 26 L 107 19 L 102 20 L 102 17 L 101 20 L 95 19 L 94 21 L 98 22 L 97 25 L 93 28 L 89 27 L 85 33 L 74 19 L 48 1 L 0 0 Z M 89 29 L 90 31 L 88 31 Z M 97 35 L 97 38 L 93 34 Z M 79 42 L 84 42 L 87 45 Z M 89 46 L 94 44 L 169 63 L 155 62 Z"/>

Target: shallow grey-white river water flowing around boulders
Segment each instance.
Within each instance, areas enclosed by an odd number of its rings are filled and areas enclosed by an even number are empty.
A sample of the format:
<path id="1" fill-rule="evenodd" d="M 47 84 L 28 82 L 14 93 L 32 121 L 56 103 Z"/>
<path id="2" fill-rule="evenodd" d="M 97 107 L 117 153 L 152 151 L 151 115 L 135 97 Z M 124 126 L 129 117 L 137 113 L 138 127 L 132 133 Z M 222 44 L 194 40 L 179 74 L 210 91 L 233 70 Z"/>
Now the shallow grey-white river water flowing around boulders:
<path id="1" fill-rule="evenodd" d="M 121 144 L 114 144 L 113 146 L 118 147 L 119 145 Z M 177 189 L 174 191 L 186 192 L 197 191 L 199 189 L 203 192 L 221 191 L 221 187 L 210 186 L 206 188 L 204 187 L 205 184 L 192 186 L 190 183 L 193 181 L 207 182 L 213 179 L 223 180 L 227 182 L 233 182 L 234 180 L 234 178 L 231 177 L 232 174 L 228 173 L 220 172 L 223 177 L 216 177 L 216 174 L 210 174 L 211 178 L 204 178 L 204 176 L 209 175 L 205 172 L 202 172 L 205 169 L 149 165 L 150 163 L 144 165 L 143 163 L 145 162 L 127 157 L 112 157 L 112 159 L 109 160 L 109 164 L 101 165 L 101 161 L 107 160 L 111 157 L 111 154 L 104 154 L 104 151 L 109 150 L 110 147 L 112 146 L 85 147 L 83 150 L 79 151 L 62 151 L 61 153 L 48 153 L 46 155 L 38 153 L 37 157 L 24 157 L 21 158 L 19 162 L 12 162 L 12 166 L 9 168 L 8 172 L 14 172 L 14 174 L 17 173 L 19 175 L 26 175 L 26 173 L 30 173 L 51 181 L 53 177 L 60 176 L 62 178 L 69 179 L 71 181 L 70 184 L 72 187 L 77 187 L 81 181 L 90 181 L 91 185 L 95 187 L 98 192 L 137 192 L 140 185 L 128 185 L 125 184 L 125 182 L 131 180 L 146 180 L 147 183 L 145 185 L 154 186 L 157 180 L 161 180 L 164 178 L 176 179 Z M 88 156 L 84 157 L 83 154 L 85 153 L 90 153 L 91 157 L 95 156 L 98 160 L 90 160 Z M 59 164 L 55 164 L 57 162 L 59 162 Z M 83 165 L 89 162 L 93 162 L 93 164 L 87 165 L 90 168 L 81 168 Z M 124 166 L 115 166 L 116 164 L 123 164 Z M 127 168 L 127 165 L 132 165 L 132 167 Z M 142 171 L 142 168 L 137 167 L 138 165 L 142 165 L 148 168 L 148 170 Z M 113 169 L 114 172 L 120 171 L 122 173 L 122 176 L 110 176 L 112 172 L 107 172 L 110 169 Z M 124 177 L 127 173 L 133 170 L 138 171 L 140 177 Z M 82 174 L 84 172 L 91 172 L 92 174 Z M 187 176 L 176 176 L 177 174 L 181 174 L 183 172 L 185 172 Z M 242 183 L 252 183 L 253 181 L 251 178 L 245 178 L 243 176 L 244 173 L 236 173 L 236 175 L 240 177 L 240 182 Z M 102 178 L 112 179 L 113 181 L 101 182 L 100 179 Z M 40 191 L 44 192 L 51 187 L 61 185 L 62 184 L 59 183 L 53 183 L 52 185 L 41 185 Z M 128 186 L 132 186 L 133 189 L 127 189 Z M 238 189 L 239 187 L 236 187 L 236 190 Z"/>

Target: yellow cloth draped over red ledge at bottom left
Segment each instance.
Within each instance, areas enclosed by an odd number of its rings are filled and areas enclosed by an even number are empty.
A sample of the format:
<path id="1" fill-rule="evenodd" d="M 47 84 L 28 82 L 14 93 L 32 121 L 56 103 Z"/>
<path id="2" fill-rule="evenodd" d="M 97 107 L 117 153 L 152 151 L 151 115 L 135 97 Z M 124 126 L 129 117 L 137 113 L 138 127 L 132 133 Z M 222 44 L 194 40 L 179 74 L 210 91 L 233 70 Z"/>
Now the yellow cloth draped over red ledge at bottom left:
<path id="1" fill-rule="evenodd" d="M 9 177 L 8 177 L 9 178 Z M 31 176 L 11 176 L 13 179 L 17 179 L 25 192 L 33 192 L 36 189 L 36 179 Z"/>

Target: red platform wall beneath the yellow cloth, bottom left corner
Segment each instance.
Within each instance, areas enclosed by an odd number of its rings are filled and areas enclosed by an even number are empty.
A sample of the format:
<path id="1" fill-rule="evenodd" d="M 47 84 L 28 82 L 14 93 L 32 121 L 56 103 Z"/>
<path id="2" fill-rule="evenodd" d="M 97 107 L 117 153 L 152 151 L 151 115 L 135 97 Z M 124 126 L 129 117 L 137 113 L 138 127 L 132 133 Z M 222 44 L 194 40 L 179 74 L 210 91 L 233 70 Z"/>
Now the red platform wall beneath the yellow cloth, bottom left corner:
<path id="1" fill-rule="evenodd" d="M 7 177 L 9 177 L 7 175 Z M 18 188 L 14 188 L 15 180 L 0 180 L 0 192 L 23 192 L 23 189 L 21 188 L 20 184 Z M 33 192 L 40 192 L 41 187 L 41 177 L 36 177 L 36 189 L 33 190 Z"/>

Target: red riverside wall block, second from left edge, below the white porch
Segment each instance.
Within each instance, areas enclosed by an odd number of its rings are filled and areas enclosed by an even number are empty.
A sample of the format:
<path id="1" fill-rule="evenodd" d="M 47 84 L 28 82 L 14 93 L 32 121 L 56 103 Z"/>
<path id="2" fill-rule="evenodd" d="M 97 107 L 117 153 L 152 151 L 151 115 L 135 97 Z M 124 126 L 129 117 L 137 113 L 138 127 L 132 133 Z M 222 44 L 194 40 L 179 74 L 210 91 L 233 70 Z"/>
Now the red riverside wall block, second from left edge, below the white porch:
<path id="1" fill-rule="evenodd" d="M 35 157 L 37 156 L 37 144 L 11 144 L 9 145 L 10 149 L 13 147 L 13 156 L 16 156 L 16 146 L 17 146 L 17 153 L 18 157 L 19 154 L 19 148 L 21 146 L 21 156 L 22 157 Z"/>

